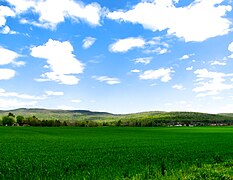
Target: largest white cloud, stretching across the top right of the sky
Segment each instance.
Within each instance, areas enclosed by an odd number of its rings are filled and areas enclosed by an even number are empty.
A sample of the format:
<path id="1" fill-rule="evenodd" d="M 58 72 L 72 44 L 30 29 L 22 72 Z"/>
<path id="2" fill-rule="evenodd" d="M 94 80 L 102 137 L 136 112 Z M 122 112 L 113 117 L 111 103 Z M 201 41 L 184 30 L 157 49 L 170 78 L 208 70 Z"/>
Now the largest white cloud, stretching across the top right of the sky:
<path id="1" fill-rule="evenodd" d="M 232 10 L 224 0 L 195 0 L 185 7 L 175 7 L 172 0 L 142 1 L 131 10 L 109 12 L 112 20 L 141 24 L 152 31 L 167 30 L 189 41 L 204 41 L 230 32 L 231 21 L 225 18 Z"/>

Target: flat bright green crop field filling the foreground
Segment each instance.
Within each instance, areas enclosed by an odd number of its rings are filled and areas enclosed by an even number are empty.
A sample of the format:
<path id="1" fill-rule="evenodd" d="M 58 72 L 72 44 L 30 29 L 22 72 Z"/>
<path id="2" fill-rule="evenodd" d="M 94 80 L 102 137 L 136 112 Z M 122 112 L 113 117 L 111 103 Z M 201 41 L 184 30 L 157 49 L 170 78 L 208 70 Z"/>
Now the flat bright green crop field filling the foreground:
<path id="1" fill-rule="evenodd" d="M 0 179 L 233 179 L 233 127 L 0 127 Z"/>

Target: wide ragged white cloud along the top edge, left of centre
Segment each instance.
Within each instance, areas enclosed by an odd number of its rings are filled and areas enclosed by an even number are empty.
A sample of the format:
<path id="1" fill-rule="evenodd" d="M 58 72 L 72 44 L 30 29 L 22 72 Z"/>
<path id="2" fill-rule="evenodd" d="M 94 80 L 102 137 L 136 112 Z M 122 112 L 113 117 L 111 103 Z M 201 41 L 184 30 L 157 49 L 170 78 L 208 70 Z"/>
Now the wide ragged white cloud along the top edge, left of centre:
<path id="1" fill-rule="evenodd" d="M 33 12 L 38 14 L 38 20 L 22 23 L 30 23 L 35 26 L 55 29 L 57 24 L 65 19 L 72 19 L 74 22 L 84 21 L 90 25 L 100 25 L 102 9 L 99 4 L 91 3 L 84 5 L 74 0 L 7 0 L 14 6 L 17 14 Z"/>

